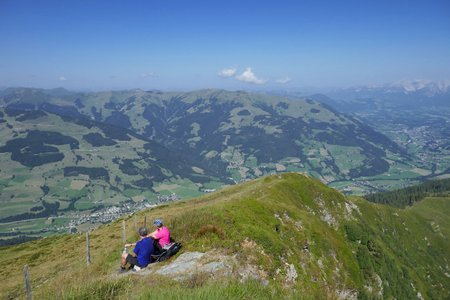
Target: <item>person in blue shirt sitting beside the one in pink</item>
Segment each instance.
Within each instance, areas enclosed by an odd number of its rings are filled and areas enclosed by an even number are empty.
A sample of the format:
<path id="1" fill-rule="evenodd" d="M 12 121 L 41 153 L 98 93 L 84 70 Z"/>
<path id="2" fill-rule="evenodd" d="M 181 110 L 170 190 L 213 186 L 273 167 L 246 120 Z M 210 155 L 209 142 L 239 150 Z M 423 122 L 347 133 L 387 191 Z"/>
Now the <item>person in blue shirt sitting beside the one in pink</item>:
<path id="1" fill-rule="evenodd" d="M 131 265 L 131 268 L 134 266 L 138 266 L 139 268 L 145 268 L 151 259 L 151 255 L 153 254 L 153 239 L 147 236 L 148 231 L 147 228 L 141 227 L 139 228 L 139 236 L 140 239 L 136 243 L 125 244 L 125 247 L 134 247 L 133 253 L 124 252 L 122 254 L 122 260 L 120 264 L 120 272 L 125 271 L 125 267 L 127 263 Z"/>

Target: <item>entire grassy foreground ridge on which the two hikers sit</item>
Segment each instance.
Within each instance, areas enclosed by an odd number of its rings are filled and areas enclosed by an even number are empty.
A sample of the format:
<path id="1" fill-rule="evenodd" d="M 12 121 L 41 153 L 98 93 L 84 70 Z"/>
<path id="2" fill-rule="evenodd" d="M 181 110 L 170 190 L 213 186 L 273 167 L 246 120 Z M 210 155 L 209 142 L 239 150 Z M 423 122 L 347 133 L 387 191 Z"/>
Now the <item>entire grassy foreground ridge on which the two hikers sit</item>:
<path id="1" fill-rule="evenodd" d="M 91 233 L 90 266 L 84 235 L 0 248 L 8 266 L 0 271 L 1 297 L 24 295 L 28 264 L 39 299 L 447 299 L 449 204 L 448 197 L 427 198 L 396 209 L 346 198 L 300 174 L 274 175 L 124 219 L 132 241 L 135 220 L 163 217 L 184 244 L 180 254 L 213 250 L 236 262 L 228 275 L 117 277 L 117 221 Z M 242 268 L 254 279 L 244 279 Z"/>

